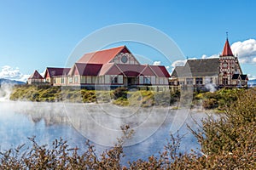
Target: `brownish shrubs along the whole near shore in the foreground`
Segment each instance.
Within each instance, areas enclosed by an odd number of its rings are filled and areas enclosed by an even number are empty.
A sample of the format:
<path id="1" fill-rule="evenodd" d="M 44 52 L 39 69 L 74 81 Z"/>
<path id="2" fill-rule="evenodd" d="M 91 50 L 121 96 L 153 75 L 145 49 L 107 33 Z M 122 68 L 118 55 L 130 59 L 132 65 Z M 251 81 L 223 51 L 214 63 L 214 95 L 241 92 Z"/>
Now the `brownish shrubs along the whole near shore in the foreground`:
<path id="1" fill-rule="evenodd" d="M 170 136 L 160 156 L 121 164 L 125 139 L 132 138 L 129 126 L 121 127 L 124 136 L 101 156 L 86 143 L 79 155 L 66 141 L 55 140 L 50 146 L 38 145 L 31 138 L 32 148 L 25 146 L 0 154 L 0 169 L 255 169 L 256 167 L 256 89 L 247 89 L 236 96 L 236 102 L 224 107 L 217 117 L 202 120 L 199 129 L 191 129 L 201 144 L 200 152 L 179 153 L 181 138 Z"/>

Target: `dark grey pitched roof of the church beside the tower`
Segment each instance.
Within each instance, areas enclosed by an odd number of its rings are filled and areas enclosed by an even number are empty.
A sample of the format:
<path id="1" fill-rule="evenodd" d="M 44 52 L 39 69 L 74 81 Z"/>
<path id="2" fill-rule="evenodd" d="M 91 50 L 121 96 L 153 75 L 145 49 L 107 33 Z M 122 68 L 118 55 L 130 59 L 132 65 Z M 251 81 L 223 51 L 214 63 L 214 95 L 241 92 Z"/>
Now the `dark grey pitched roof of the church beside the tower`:
<path id="1" fill-rule="evenodd" d="M 184 66 L 175 67 L 172 77 L 218 76 L 219 59 L 189 59 Z"/>

